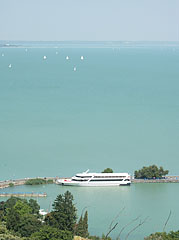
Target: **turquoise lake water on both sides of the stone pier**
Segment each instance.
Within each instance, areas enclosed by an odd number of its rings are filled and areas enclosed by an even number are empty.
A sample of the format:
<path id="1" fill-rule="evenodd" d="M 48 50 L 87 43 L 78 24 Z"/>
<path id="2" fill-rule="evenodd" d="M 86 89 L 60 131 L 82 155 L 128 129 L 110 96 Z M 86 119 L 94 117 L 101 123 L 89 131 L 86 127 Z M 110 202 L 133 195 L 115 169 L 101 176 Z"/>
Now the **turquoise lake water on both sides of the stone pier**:
<path id="1" fill-rule="evenodd" d="M 154 163 L 179 174 L 178 80 L 177 46 L 0 48 L 0 180 L 106 167 L 133 174 Z M 49 198 L 65 189 L 48 188 Z M 138 214 L 152 219 L 138 239 L 158 219 L 162 230 L 170 209 L 168 229 L 176 228 L 177 184 L 72 191 L 79 209 L 90 201 L 93 234 L 124 205 L 123 223 Z"/>

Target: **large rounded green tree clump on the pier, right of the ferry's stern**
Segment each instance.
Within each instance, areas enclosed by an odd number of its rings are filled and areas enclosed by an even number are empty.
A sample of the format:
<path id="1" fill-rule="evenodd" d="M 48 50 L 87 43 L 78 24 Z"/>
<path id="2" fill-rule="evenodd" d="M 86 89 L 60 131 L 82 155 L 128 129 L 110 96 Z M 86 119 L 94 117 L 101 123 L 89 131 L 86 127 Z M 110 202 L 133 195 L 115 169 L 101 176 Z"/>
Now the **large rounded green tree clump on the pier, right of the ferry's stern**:
<path id="1" fill-rule="evenodd" d="M 158 168 L 156 165 L 143 167 L 142 169 L 134 172 L 134 177 L 137 179 L 161 179 L 169 173 L 163 167 Z"/>

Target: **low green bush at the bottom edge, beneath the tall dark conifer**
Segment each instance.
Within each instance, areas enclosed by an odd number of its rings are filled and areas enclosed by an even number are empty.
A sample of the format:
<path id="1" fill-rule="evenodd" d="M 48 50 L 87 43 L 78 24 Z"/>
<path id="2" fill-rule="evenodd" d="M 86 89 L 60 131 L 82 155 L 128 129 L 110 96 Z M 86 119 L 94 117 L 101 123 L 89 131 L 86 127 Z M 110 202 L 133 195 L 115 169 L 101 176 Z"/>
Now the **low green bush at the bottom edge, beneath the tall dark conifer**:
<path id="1" fill-rule="evenodd" d="M 31 235 L 31 240 L 72 240 L 73 234 L 58 228 L 43 226 L 40 231 Z"/>

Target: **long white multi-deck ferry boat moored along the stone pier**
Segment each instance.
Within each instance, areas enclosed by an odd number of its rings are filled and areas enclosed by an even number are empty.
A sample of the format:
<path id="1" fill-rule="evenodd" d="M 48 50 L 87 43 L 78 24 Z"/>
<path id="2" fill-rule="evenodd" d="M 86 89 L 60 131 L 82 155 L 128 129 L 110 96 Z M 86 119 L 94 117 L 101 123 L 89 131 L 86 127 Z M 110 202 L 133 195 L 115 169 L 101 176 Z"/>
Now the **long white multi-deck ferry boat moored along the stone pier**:
<path id="1" fill-rule="evenodd" d="M 78 173 L 72 178 L 58 179 L 57 184 L 80 187 L 127 186 L 131 184 L 128 173 Z"/>

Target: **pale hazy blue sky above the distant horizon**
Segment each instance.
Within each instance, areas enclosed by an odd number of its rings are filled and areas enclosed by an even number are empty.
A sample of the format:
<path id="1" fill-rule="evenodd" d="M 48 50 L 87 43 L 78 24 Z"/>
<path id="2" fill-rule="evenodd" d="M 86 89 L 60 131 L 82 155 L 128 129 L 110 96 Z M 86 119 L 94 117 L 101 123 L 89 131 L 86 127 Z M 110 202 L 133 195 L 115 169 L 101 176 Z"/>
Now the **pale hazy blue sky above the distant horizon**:
<path id="1" fill-rule="evenodd" d="M 0 0 L 0 40 L 179 40 L 179 0 Z"/>

